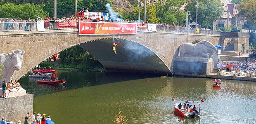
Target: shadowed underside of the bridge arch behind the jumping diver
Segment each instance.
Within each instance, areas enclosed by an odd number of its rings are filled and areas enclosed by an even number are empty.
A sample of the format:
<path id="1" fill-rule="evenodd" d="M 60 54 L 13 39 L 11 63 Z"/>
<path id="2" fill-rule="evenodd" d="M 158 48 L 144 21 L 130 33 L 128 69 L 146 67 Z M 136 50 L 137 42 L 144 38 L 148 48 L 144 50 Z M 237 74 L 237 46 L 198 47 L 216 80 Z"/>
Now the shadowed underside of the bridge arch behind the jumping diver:
<path id="1" fill-rule="evenodd" d="M 114 42 L 116 53 L 112 49 Z M 145 45 L 123 38 L 100 38 L 78 44 L 89 51 L 107 71 L 138 73 L 171 73 L 165 63 L 154 51 Z"/>

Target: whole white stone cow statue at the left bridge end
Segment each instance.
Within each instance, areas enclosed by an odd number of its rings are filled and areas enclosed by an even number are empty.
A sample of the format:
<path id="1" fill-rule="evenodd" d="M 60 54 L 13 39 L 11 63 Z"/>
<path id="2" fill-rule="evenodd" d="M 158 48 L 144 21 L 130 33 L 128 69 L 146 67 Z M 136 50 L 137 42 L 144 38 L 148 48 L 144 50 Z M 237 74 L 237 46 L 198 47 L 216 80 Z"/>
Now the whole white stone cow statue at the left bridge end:
<path id="1" fill-rule="evenodd" d="M 0 87 L 2 83 L 9 82 L 12 79 L 14 70 L 21 70 L 21 64 L 23 61 L 23 54 L 25 51 L 20 49 L 12 50 L 12 53 L 9 54 L 0 54 L 0 64 L 3 64 L 5 69 L 0 72 L 2 77 L 0 77 Z"/>

